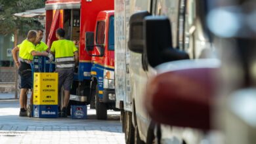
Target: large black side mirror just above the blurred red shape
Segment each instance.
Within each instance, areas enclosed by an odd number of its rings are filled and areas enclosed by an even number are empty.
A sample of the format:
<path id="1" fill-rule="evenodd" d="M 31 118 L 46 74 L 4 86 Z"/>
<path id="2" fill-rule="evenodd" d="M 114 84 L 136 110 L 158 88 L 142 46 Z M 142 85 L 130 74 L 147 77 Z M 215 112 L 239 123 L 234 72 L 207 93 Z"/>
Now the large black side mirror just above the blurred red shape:
<path id="1" fill-rule="evenodd" d="M 167 16 L 146 16 L 144 35 L 146 37 L 144 51 L 152 67 L 165 62 L 189 59 L 186 52 L 173 48 L 171 24 Z"/>

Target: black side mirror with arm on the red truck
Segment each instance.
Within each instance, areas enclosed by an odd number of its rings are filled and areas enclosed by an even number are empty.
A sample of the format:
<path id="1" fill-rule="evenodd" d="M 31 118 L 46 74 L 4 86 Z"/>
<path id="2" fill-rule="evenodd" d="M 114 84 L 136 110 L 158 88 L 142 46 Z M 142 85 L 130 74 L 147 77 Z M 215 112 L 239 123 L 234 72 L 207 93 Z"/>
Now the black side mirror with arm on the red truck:
<path id="1" fill-rule="evenodd" d="M 98 54 L 93 54 L 95 48 L 98 50 Z M 104 45 L 95 45 L 95 33 L 87 31 L 85 33 L 85 50 L 89 56 L 104 56 Z"/>

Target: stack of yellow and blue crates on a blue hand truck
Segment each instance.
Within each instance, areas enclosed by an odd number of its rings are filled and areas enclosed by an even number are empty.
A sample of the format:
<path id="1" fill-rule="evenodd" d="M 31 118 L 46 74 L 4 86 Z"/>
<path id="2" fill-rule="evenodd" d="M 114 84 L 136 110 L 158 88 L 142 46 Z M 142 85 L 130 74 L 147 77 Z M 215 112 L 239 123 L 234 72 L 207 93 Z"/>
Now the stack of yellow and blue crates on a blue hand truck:
<path id="1" fill-rule="evenodd" d="M 33 61 L 33 117 L 58 117 L 58 73 L 45 56 Z"/>

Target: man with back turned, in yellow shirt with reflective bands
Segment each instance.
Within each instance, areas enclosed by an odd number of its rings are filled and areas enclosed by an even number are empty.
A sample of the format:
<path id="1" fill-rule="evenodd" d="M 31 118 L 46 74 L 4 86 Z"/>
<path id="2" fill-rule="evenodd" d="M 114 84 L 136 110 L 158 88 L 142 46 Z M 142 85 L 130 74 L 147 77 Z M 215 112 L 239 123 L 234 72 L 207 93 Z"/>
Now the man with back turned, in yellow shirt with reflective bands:
<path id="1" fill-rule="evenodd" d="M 66 107 L 70 101 L 70 89 L 74 77 L 74 67 L 78 64 L 79 54 L 72 41 L 64 39 L 65 31 L 62 28 L 56 30 L 56 38 L 51 46 L 51 52 L 55 55 L 56 72 L 58 73 L 58 90 L 64 87 L 64 103 L 60 117 L 67 117 Z M 75 57 L 74 57 L 75 56 Z M 60 91 L 58 93 L 58 105 L 60 107 Z"/>

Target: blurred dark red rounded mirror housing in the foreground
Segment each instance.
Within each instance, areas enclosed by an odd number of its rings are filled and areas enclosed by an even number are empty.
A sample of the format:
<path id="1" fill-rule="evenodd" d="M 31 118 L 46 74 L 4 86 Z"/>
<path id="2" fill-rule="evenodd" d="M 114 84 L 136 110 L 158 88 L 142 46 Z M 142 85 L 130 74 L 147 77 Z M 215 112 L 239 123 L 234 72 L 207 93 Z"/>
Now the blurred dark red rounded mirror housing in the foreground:
<path id="1" fill-rule="evenodd" d="M 167 71 L 148 84 L 145 105 L 158 123 L 208 130 L 217 68 Z"/>

